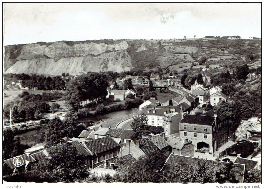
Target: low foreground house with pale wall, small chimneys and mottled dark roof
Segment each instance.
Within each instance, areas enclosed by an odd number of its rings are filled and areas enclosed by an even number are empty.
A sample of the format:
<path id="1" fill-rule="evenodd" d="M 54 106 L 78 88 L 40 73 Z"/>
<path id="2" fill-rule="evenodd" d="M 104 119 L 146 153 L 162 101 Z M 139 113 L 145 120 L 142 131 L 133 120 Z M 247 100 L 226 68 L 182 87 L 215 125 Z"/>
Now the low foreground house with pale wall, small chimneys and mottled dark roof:
<path id="1" fill-rule="evenodd" d="M 136 161 L 137 160 L 131 154 L 128 154 L 113 161 L 104 162 L 102 165 L 92 169 L 90 173 L 94 173 L 98 176 L 103 174 L 109 174 L 110 176 L 114 176 L 115 174 L 127 174 L 131 165 Z"/>

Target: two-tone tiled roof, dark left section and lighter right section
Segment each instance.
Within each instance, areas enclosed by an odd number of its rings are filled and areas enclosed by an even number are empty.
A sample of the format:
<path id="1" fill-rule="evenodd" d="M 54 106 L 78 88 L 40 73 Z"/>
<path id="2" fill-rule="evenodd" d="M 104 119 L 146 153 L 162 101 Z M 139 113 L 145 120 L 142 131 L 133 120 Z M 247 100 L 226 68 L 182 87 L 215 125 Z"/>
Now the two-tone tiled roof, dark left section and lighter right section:
<path id="1" fill-rule="evenodd" d="M 166 146 L 169 146 L 169 143 L 166 142 L 160 135 L 139 139 L 139 148 L 146 154 L 151 155 L 157 150 L 161 150 Z M 136 143 L 135 141 L 133 141 Z"/>

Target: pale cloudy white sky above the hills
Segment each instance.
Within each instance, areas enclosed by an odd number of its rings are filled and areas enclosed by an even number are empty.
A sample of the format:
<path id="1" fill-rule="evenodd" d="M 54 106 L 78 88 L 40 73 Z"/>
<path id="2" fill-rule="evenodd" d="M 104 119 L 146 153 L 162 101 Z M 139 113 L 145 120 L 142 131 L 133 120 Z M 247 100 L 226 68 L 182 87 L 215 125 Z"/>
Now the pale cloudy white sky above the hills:
<path id="1" fill-rule="evenodd" d="M 5 3 L 4 45 L 261 37 L 261 3 Z"/>

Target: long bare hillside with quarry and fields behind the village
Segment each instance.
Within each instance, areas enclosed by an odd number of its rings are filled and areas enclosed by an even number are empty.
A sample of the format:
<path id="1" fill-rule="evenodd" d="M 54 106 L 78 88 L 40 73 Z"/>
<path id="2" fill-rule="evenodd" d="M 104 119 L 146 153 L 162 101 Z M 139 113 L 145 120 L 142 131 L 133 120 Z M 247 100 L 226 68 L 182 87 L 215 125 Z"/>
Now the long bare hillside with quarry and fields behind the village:
<path id="1" fill-rule="evenodd" d="M 261 40 L 92 40 L 8 45 L 5 73 L 60 75 L 79 72 L 156 70 L 178 72 L 198 64 L 227 66 L 247 60 L 249 67 L 261 66 Z M 186 62 L 188 64 L 186 64 Z M 182 64 L 184 63 L 184 64 Z M 178 65 L 179 64 L 179 65 Z"/>

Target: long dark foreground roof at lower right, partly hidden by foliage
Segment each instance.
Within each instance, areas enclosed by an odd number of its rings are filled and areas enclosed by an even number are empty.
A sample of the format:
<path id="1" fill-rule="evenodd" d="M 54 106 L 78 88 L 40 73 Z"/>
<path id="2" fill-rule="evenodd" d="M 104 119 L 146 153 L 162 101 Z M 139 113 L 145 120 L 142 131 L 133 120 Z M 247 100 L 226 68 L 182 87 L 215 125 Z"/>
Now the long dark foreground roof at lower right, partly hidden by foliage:
<path id="1" fill-rule="evenodd" d="M 215 160 L 199 159 L 177 154 L 170 154 L 165 162 L 165 165 L 168 166 L 170 171 L 174 172 L 175 166 L 180 165 L 183 167 L 197 167 L 200 164 L 199 162 L 201 161 L 204 162 L 205 169 L 210 169 L 213 175 L 215 175 L 217 172 L 225 171 L 227 169 L 227 166 L 231 165 L 230 174 L 233 174 L 239 183 L 244 182 L 244 177 L 247 174 L 247 170 L 245 169 L 245 165 L 243 164 L 228 163 Z"/>

